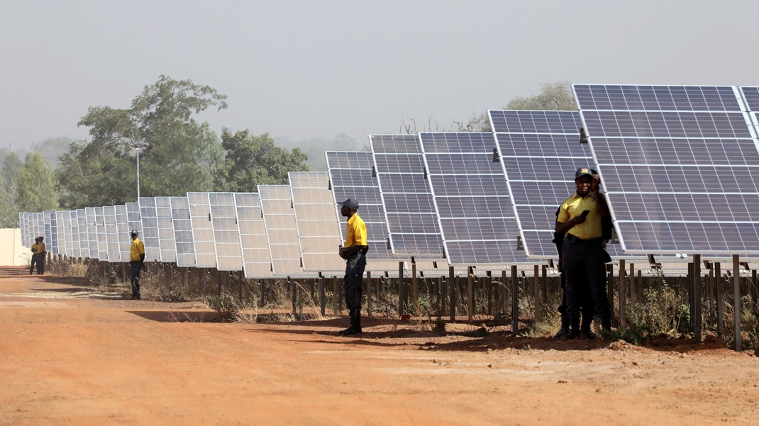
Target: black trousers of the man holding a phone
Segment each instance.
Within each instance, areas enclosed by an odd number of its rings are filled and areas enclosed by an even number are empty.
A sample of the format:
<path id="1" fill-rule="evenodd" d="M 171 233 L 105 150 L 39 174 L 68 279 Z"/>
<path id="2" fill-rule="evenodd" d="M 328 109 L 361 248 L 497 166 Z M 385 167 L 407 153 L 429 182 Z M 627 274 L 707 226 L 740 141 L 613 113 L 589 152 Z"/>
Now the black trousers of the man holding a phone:
<path id="1" fill-rule="evenodd" d="M 566 309 L 569 318 L 578 320 L 580 310 L 594 312 L 601 322 L 609 320 L 604 262 L 606 252 L 601 239 L 591 241 L 568 237 L 564 241 L 562 260 L 566 274 Z M 592 305 L 591 305 L 592 302 Z M 587 319 L 590 319 L 590 315 Z M 590 321 L 583 321 L 590 325 Z"/>

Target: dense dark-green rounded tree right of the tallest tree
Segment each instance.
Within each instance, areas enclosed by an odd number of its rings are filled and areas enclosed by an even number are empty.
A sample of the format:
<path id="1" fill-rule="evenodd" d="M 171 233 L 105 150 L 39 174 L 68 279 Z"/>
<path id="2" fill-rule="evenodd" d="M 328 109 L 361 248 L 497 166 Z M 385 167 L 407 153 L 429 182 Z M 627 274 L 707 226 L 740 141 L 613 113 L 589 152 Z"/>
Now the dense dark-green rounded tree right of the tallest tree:
<path id="1" fill-rule="evenodd" d="M 298 148 L 275 146 L 269 133 L 225 130 L 222 147 L 226 158 L 216 173 L 216 187 L 222 191 L 257 193 L 259 185 L 288 183 L 289 171 L 308 171 L 307 155 Z"/>

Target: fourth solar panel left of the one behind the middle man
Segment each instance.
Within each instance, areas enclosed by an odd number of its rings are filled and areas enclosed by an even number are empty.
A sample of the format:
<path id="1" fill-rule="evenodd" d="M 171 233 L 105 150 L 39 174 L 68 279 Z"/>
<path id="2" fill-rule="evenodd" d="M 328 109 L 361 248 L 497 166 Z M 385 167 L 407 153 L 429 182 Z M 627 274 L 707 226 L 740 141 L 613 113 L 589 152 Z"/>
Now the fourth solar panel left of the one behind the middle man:
<path id="1" fill-rule="evenodd" d="M 232 193 L 208 193 L 219 271 L 242 271 L 240 231 Z"/>

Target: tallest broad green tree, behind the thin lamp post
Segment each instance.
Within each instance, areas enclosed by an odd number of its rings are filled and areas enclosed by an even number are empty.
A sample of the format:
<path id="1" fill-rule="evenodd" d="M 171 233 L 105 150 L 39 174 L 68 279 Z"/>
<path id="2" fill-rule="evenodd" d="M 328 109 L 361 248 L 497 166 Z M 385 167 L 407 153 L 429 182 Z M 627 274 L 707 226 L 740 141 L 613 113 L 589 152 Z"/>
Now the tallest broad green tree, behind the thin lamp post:
<path id="1" fill-rule="evenodd" d="M 145 86 L 130 108 L 90 107 L 78 125 L 89 143 L 72 143 L 61 155 L 58 177 L 66 208 L 115 205 L 137 197 L 135 150 L 140 149 L 140 196 L 176 196 L 213 190 L 213 170 L 223 159 L 216 133 L 193 115 L 226 96 L 191 80 L 161 76 Z"/>

